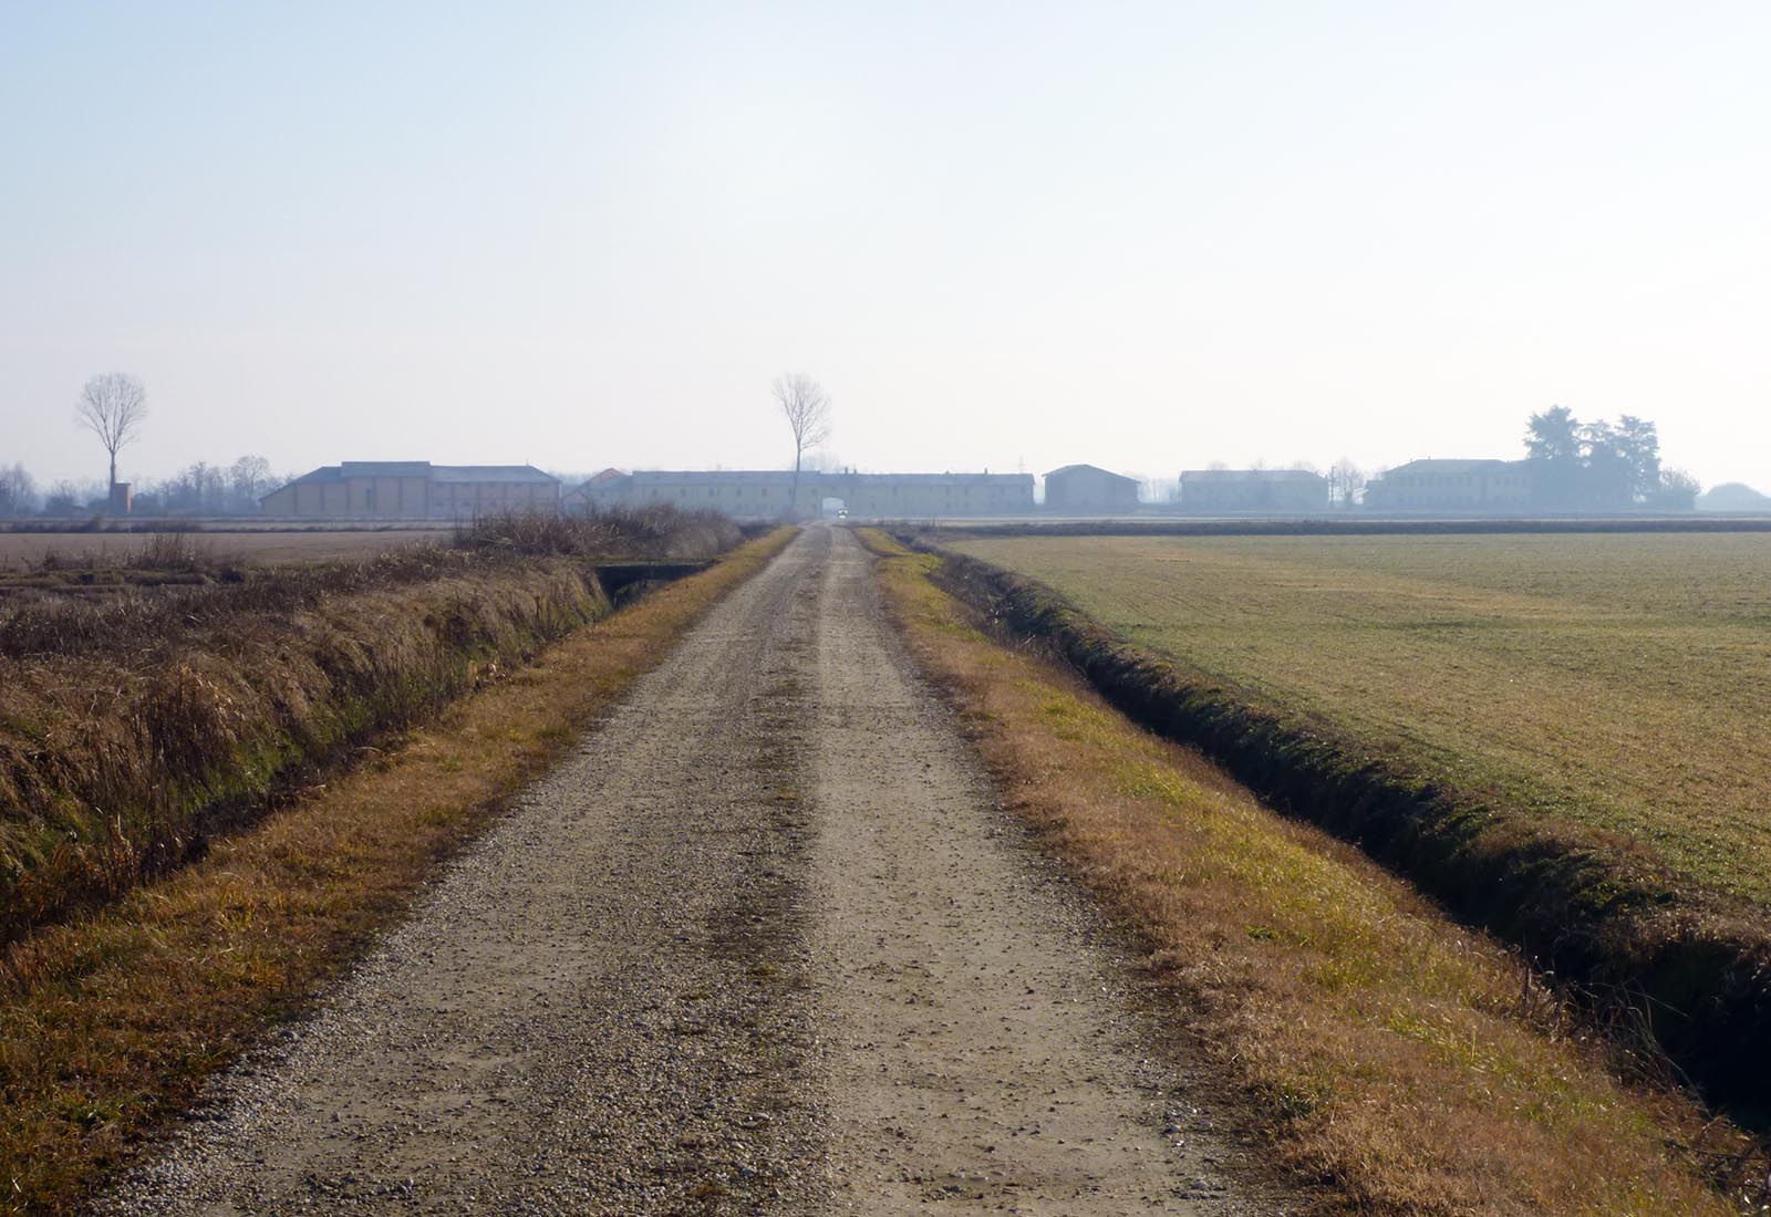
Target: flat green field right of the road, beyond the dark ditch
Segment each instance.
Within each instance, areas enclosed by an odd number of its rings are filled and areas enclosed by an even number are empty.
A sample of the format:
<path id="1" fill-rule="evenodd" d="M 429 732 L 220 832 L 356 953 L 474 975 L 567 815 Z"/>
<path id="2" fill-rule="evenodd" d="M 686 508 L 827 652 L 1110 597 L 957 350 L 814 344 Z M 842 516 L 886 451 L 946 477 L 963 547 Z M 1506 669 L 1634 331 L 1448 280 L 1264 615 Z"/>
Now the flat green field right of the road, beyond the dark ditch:
<path id="1" fill-rule="evenodd" d="M 1125 637 L 1771 906 L 1771 536 L 969 540 Z"/>

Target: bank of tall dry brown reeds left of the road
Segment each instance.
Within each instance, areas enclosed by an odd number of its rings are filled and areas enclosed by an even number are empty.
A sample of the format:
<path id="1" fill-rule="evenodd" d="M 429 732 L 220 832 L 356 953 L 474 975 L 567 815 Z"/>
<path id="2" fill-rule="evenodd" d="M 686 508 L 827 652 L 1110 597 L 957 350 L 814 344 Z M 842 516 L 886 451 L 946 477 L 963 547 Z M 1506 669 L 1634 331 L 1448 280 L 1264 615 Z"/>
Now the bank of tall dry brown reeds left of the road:
<path id="1" fill-rule="evenodd" d="M 214 587 L 182 616 L 81 614 L 67 646 L 0 653 L 0 943 L 202 856 L 214 833 L 705 566 L 453 550 L 381 564 Z"/>

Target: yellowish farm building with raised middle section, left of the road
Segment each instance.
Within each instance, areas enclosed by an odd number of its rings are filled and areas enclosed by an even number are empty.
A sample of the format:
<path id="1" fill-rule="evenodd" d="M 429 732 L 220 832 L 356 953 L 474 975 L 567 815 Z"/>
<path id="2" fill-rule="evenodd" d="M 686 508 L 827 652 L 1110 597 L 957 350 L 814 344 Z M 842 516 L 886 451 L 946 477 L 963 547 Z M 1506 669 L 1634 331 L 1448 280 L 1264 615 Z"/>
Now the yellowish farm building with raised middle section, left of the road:
<path id="1" fill-rule="evenodd" d="M 560 479 L 535 465 L 347 460 L 301 474 L 260 502 L 266 515 L 471 520 L 492 511 L 558 511 Z"/>

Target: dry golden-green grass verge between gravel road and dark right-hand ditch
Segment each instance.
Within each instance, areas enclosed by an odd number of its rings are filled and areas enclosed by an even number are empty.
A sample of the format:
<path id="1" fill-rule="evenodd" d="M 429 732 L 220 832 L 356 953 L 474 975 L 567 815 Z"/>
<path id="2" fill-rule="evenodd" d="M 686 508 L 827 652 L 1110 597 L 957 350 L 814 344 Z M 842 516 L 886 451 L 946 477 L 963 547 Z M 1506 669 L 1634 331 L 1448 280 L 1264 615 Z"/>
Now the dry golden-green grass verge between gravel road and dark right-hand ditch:
<path id="1" fill-rule="evenodd" d="M 1011 803 L 1149 946 L 1275 1157 L 1346 1213 L 1737 1212 L 1698 1175 L 1746 1143 L 1605 1068 L 1528 969 L 1264 810 L 1066 669 L 997 646 L 878 534 L 894 617 Z"/>

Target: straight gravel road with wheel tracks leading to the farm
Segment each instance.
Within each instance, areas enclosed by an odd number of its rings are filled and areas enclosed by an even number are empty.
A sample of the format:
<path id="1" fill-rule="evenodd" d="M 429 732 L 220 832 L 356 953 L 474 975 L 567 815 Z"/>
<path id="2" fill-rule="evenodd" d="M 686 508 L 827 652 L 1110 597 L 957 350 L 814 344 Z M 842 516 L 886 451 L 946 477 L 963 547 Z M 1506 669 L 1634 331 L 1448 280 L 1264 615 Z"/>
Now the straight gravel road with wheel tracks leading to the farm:
<path id="1" fill-rule="evenodd" d="M 1273 1213 L 847 531 L 733 593 L 131 1213 Z"/>

